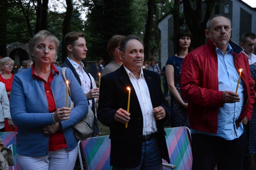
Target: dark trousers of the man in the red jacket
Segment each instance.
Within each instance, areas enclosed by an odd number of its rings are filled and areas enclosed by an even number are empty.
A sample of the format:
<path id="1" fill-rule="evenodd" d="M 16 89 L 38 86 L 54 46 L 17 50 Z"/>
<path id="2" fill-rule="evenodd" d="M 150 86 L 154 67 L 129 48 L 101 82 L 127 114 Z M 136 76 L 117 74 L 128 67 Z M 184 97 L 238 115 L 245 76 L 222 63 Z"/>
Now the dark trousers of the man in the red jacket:
<path id="1" fill-rule="evenodd" d="M 204 134 L 191 134 L 192 138 L 192 170 L 213 170 L 217 164 L 218 170 L 242 169 L 246 146 L 246 131 L 233 140 L 225 140 Z"/>

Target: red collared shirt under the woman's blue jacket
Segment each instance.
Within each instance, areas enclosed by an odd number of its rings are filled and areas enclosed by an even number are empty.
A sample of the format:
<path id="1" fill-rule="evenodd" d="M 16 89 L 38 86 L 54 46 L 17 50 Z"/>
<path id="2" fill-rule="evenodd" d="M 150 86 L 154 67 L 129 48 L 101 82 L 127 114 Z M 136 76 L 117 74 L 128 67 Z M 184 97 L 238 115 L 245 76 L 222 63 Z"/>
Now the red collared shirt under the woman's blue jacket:
<path id="1" fill-rule="evenodd" d="M 53 81 L 55 72 L 59 75 L 59 71 L 55 68 L 53 64 L 51 64 L 51 68 L 52 68 L 52 72 L 50 73 L 48 81 L 46 82 L 44 79 L 42 79 L 39 75 L 35 73 L 34 64 L 32 65 L 32 77 L 34 79 L 37 78 L 38 80 L 44 82 L 44 90 L 45 90 L 45 95 L 47 98 L 48 109 L 50 114 L 56 111 L 56 105 L 55 105 L 54 96 L 53 96 L 53 92 L 50 84 Z M 50 135 L 49 148 L 48 148 L 49 151 L 57 151 L 64 148 L 67 148 L 67 143 L 62 131 L 57 131 L 54 134 Z"/>

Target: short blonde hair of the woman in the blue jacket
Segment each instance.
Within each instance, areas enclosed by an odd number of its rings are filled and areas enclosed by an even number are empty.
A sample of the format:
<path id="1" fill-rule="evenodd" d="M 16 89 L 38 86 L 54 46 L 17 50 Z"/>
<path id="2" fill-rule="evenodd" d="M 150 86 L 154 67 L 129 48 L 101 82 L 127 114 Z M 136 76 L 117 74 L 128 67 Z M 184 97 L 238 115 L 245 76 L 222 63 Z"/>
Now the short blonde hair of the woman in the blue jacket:
<path id="1" fill-rule="evenodd" d="M 55 45 L 55 51 L 56 51 L 56 55 L 54 58 L 57 58 L 57 51 L 59 49 L 59 40 L 57 37 L 55 37 L 53 34 L 51 34 L 49 31 L 47 30 L 42 30 L 42 31 L 39 31 L 37 34 L 35 34 L 28 42 L 28 50 L 31 52 L 32 54 L 32 50 L 35 46 L 35 44 L 38 42 L 38 41 L 41 41 L 41 40 L 45 40 L 46 38 L 49 38 L 51 40 L 51 42 L 54 43 Z M 35 60 L 34 56 L 32 55 L 32 58 L 31 58 L 32 61 Z"/>

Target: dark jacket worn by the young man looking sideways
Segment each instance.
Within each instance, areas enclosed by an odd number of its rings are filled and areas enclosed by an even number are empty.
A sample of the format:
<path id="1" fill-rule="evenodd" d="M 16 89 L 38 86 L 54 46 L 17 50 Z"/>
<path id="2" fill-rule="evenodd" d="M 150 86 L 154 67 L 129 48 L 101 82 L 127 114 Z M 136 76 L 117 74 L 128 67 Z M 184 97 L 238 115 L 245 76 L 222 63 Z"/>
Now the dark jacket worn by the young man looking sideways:
<path id="1" fill-rule="evenodd" d="M 73 74 L 75 75 L 75 78 L 76 80 L 79 82 L 80 86 L 81 86 L 81 80 L 79 78 L 79 75 L 78 73 L 75 71 L 75 68 L 73 67 L 73 65 L 69 62 L 68 58 L 65 59 L 65 62 L 60 66 L 60 67 L 67 67 L 69 69 L 72 70 Z M 89 76 L 90 78 L 90 75 L 88 73 L 88 71 L 86 69 L 84 69 L 84 71 L 86 72 L 86 74 Z M 91 80 L 91 78 L 90 78 Z M 91 89 L 93 88 L 93 84 L 91 83 Z M 96 113 L 95 113 L 95 101 L 94 99 L 92 100 L 93 101 L 93 106 L 91 107 L 91 109 L 93 110 L 93 113 L 94 113 L 94 127 L 93 127 L 93 135 L 92 137 L 94 137 L 94 134 L 99 134 L 99 126 L 98 126 L 98 122 L 97 122 L 97 118 L 96 118 Z M 89 104 L 89 100 L 88 100 L 88 104 Z"/>

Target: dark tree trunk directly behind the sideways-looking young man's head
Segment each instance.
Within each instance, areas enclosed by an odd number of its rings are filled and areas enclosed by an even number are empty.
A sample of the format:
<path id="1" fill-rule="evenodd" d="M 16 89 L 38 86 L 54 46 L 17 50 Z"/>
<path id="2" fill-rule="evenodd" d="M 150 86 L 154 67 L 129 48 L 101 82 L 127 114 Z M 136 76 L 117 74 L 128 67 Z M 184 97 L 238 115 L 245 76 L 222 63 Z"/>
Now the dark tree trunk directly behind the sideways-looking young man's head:
<path id="1" fill-rule="evenodd" d="M 63 28 L 62 28 L 63 39 L 61 42 L 61 46 L 62 46 L 61 61 L 62 61 L 62 63 L 65 61 L 65 58 L 68 56 L 68 53 L 66 51 L 65 44 L 64 44 L 64 37 L 67 35 L 67 33 L 71 32 L 70 23 L 71 23 L 71 18 L 72 18 L 72 11 L 73 11 L 72 0 L 66 0 L 66 3 L 67 3 L 67 12 L 66 12 L 65 19 L 63 20 L 63 24 L 62 24 L 62 26 L 63 26 Z"/>

